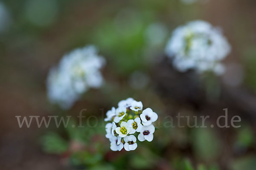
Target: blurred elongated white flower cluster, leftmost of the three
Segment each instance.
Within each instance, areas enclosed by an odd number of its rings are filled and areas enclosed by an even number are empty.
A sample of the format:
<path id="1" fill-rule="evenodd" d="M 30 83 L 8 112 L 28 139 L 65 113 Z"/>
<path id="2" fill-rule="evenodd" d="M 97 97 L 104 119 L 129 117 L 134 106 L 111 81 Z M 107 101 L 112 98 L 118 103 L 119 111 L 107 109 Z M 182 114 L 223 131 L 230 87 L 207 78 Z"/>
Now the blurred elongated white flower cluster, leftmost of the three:
<path id="1" fill-rule="evenodd" d="M 105 64 L 105 59 L 97 52 L 94 46 L 88 45 L 64 55 L 47 77 L 50 102 L 68 109 L 89 88 L 99 88 L 102 85 L 103 78 L 99 69 Z"/>

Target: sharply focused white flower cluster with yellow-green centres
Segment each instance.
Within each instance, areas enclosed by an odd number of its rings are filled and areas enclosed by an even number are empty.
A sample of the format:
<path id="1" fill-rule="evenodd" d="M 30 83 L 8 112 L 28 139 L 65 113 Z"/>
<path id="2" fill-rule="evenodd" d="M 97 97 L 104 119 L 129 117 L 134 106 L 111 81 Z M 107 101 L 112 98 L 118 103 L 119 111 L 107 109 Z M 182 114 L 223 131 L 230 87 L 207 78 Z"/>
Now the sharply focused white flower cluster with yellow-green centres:
<path id="1" fill-rule="evenodd" d="M 104 120 L 111 122 L 106 125 L 106 138 L 111 142 L 111 150 L 120 151 L 123 147 L 127 151 L 135 150 L 137 138 L 141 142 L 153 140 L 155 127 L 152 122 L 158 116 L 151 108 L 143 110 L 142 102 L 132 98 L 122 100 L 118 103 L 118 108 L 113 107 L 106 115 Z"/>

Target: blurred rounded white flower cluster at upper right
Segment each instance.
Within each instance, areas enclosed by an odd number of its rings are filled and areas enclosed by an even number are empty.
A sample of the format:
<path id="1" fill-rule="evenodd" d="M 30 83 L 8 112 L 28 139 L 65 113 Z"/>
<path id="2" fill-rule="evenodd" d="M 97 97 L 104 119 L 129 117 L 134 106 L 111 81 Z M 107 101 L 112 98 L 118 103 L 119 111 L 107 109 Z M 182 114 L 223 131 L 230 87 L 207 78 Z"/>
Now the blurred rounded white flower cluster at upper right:
<path id="1" fill-rule="evenodd" d="M 195 69 L 199 73 L 213 71 L 221 75 L 225 68 L 220 61 L 230 53 L 230 49 L 220 29 L 196 20 L 176 28 L 165 51 L 178 71 Z"/>

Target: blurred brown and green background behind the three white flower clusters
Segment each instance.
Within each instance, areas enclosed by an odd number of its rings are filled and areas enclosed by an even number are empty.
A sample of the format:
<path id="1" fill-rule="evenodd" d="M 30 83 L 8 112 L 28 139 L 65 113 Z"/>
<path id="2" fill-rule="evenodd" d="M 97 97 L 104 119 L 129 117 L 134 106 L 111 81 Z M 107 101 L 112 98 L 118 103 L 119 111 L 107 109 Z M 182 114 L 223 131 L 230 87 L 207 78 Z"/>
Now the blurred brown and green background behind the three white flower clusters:
<path id="1" fill-rule="evenodd" d="M 255 0 L 1 0 L 1 169 L 254 170 L 255 8 Z M 166 59 L 172 31 L 198 19 L 219 26 L 232 46 L 222 77 L 179 73 Z M 65 53 L 88 44 L 106 58 L 105 84 L 62 111 L 47 100 L 48 71 Z M 77 124 L 76 116 L 86 108 L 85 116 L 102 121 L 106 111 L 128 97 L 160 118 L 153 142 L 138 143 L 131 152 L 111 151 L 104 125 L 56 128 L 52 122 L 38 128 L 34 121 L 20 128 L 15 118 L 72 115 Z M 229 122 L 241 117 L 240 128 L 163 126 L 170 121 L 166 116 L 179 112 L 209 115 L 206 123 L 212 124 L 224 108 Z"/>

